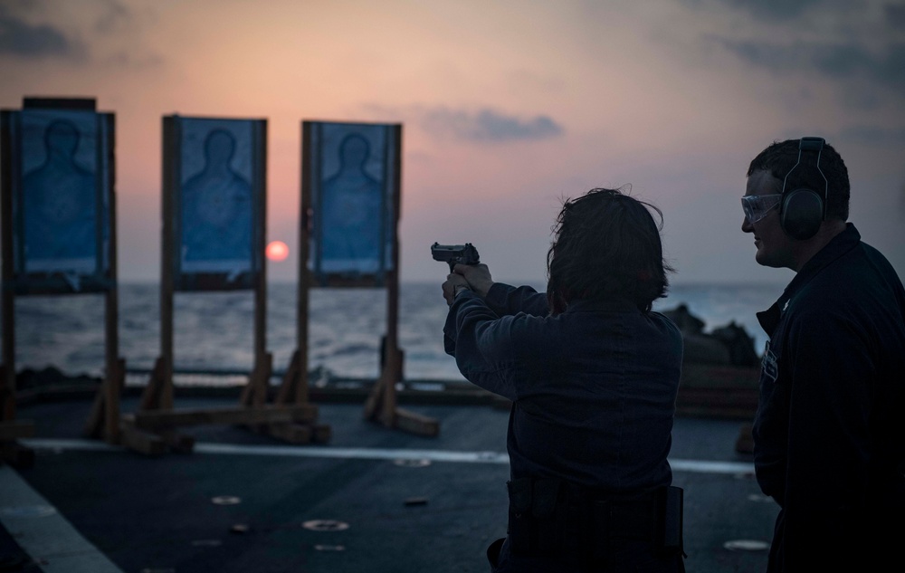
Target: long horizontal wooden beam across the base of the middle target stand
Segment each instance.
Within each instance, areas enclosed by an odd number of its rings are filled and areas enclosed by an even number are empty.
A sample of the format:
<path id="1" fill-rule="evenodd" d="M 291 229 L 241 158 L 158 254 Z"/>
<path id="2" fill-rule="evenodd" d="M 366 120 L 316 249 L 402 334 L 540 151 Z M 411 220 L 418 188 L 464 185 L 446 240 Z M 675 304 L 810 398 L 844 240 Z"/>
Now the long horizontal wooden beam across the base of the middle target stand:
<path id="1" fill-rule="evenodd" d="M 279 422 L 310 422 L 317 417 L 318 407 L 255 406 L 211 409 L 152 410 L 135 413 L 135 425 L 146 430 L 181 425 L 251 425 Z"/>

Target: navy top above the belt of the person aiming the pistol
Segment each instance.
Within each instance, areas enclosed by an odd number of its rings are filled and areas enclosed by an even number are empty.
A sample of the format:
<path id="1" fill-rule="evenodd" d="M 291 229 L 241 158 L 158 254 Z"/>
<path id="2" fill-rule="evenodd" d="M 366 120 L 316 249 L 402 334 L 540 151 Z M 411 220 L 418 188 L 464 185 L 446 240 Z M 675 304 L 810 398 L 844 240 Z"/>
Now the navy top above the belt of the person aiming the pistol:
<path id="1" fill-rule="evenodd" d="M 681 376 L 679 329 L 632 302 L 573 301 L 494 283 L 465 291 L 443 327 L 462 376 L 513 401 L 512 479 L 559 477 L 605 492 L 672 483 L 667 461 Z"/>

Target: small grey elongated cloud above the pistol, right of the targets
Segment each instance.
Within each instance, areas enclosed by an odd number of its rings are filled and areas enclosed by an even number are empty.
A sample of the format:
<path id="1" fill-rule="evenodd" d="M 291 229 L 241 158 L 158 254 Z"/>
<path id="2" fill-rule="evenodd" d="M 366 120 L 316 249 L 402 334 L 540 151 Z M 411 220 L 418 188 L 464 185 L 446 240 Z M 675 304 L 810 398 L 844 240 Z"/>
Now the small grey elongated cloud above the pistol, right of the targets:
<path id="1" fill-rule="evenodd" d="M 476 112 L 433 108 L 422 110 L 418 122 L 428 132 L 468 141 L 503 142 L 555 138 L 563 133 L 556 121 L 545 115 L 519 118 L 483 109 Z"/>

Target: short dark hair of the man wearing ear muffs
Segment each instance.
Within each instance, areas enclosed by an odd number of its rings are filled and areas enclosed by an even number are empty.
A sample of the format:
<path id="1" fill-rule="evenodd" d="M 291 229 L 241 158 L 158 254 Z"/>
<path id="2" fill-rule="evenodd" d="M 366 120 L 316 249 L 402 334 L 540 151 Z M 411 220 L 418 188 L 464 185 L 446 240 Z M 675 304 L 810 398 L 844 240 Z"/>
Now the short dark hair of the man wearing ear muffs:
<path id="1" fill-rule="evenodd" d="M 751 177 L 755 171 L 768 171 L 778 180 L 776 193 L 782 193 L 786 175 L 790 176 L 786 181 L 786 191 L 806 187 L 820 192 L 822 196 L 825 187 L 826 218 L 848 220 L 849 196 L 852 188 L 848 178 L 848 167 L 845 167 L 843 158 L 833 146 L 824 143 L 824 148 L 820 151 L 819 171 L 813 167 L 806 169 L 798 167 L 794 172 L 789 173 L 798 163 L 800 141 L 801 139 L 774 141 L 751 161 L 747 177 Z M 804 158 L 802 165 L 805 165 Z M 826 177 L 825 181 L 824 177 Z"/>

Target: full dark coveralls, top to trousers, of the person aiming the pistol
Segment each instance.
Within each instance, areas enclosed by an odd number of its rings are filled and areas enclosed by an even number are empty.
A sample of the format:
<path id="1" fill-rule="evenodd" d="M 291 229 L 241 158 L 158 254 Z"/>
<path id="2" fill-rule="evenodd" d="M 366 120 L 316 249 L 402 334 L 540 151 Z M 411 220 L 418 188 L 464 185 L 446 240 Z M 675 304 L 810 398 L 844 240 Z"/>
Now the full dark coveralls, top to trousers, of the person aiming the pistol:
<path id="1" fill-rule="evenodd" d="M 513 402 L 509 528 L 491 570 L 684 570 L 681 548 L 656 539 L 681 375 L 671 320 L 624 300 L 550 317 L 546 294 L 495 283 L 486 300 L 456 297 L 443 333 L 464 377 Z"/>

